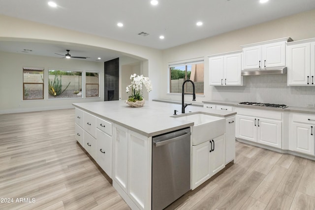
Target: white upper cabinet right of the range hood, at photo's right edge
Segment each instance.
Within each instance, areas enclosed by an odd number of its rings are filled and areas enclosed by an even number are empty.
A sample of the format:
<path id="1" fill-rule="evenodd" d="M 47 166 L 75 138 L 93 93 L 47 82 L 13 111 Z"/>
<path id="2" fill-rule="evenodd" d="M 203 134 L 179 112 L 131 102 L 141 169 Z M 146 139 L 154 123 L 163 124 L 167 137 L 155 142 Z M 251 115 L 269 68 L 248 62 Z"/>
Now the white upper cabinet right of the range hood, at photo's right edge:
<path id="1" fill-rule="evenodd" d="M 287 43 L 287 85 L 315 86 L 315 39 Z"/>

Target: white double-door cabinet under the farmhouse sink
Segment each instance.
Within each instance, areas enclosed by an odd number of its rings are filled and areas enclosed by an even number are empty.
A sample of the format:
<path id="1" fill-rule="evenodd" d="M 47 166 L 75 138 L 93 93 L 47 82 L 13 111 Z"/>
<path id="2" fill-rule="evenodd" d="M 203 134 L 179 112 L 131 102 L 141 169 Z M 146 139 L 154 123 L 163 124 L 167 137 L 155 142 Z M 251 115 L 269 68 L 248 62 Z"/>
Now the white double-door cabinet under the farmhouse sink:
<path id="1" fill-rule="evenodd" d="M 225 167 L 225 134 L 192 146 L 192 184 L 195 189 Z"/>

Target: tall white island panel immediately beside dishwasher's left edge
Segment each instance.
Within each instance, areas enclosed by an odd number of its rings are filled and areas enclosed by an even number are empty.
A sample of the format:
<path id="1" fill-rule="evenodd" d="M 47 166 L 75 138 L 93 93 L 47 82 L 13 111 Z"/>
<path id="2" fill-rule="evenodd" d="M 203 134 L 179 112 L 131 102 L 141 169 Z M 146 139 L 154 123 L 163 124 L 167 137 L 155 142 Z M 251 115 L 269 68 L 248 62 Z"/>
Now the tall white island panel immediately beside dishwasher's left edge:
<path id="1" fill-rule="evenodd" d="M 150 142 L 150 144 L 149 144 Z M 151 208 L 152 148 L 148 138 L 128 130 L 128 195 L 140 210 Z M 151 150 L 150 150 L 151 151 Z"/>

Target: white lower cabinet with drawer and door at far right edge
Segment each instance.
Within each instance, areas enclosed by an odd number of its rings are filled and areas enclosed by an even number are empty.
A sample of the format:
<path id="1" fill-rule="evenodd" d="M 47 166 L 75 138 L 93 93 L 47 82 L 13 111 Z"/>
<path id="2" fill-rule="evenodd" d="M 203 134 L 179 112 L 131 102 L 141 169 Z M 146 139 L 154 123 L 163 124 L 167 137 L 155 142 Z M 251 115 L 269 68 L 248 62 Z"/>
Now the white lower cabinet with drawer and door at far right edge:
<path id="1" fill-rule="evenodd" d="M 315 155 L 315 115 L 293 113 L 289 126 L 289 150 Z"/>

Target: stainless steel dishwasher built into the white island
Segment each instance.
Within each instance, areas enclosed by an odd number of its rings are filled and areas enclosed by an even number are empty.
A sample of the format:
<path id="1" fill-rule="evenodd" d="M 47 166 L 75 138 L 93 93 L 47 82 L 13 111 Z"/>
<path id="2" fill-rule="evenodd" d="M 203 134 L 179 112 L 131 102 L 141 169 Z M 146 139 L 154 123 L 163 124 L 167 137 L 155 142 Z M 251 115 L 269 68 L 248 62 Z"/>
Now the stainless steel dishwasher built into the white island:
<path id="1" fill-rule="evenodd" d="M 152 138 L 152 210 L 162 210 L 190 190 L 190 128 Z"/>

